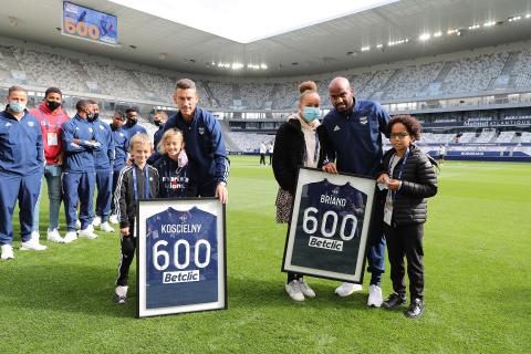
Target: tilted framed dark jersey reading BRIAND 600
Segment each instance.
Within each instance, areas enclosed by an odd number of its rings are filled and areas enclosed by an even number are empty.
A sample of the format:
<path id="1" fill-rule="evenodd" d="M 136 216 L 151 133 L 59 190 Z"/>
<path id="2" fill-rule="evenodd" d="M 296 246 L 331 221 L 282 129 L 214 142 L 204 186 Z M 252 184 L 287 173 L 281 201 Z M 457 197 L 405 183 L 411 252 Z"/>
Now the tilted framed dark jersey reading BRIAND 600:
<path id="1" fill-rule="evenodd" d="M 362 283 L 376 181 L 301 168 L 282 271 Z"/>

